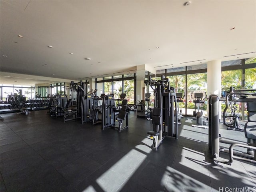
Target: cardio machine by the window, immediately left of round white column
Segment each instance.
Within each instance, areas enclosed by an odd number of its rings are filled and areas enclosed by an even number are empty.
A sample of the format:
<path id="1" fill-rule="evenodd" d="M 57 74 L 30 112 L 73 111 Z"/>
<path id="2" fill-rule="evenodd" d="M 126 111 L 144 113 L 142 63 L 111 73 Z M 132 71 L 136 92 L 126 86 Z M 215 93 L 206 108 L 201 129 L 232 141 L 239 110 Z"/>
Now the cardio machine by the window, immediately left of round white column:
<path id="1" fill-rule="evenodd" d="M 193 94 L 193 93 L 192 93 Z M 193 111 L 193 118 L 196 118 L 196 125 L 192 124 L 192 127 L 200 127 L 200 128 L 208 128 L 206 125 L 206 118 L 203 114 L 203 104 L 205 103 L 205 99 L 207 98 L 207 94 L 205 92 L 205 97 L 203 98 L 203 93 L 194 93 L 194 98 L 192 97 L 193 102 L 195 103 L 195 110 Z M 196 104 L 197 104 L 197 112 L 196 112 Z M 200 104 L 201 104 L 201 112 L 200 112 Z"/>

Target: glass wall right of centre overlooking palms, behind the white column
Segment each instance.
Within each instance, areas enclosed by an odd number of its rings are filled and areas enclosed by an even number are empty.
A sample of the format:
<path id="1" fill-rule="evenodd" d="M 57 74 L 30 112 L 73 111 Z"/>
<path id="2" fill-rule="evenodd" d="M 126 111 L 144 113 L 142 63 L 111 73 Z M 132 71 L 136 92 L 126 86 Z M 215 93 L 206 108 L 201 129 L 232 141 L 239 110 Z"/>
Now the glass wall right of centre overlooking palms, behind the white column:
<path id="1" fill-rule="evenodd" d="M 221 66 L 223 93 L 224 91 L 229 91 L 230 86 L 233 86 L 234 89 L 256 88 L 256 58 L 224 61 L 221 63 Z M 157 77 L 161 75 L 170 79 L 170 84 L 176 88 L 176 92 L 182 92 L 184 90 L 186 97 L 182 108 L 183 106 L 186 108 L 186 115 L 192 115 L 195 108 L 193 103 L 194 93 L 201 92 L 205 96 L 205 92 L 207 91 L 207 64 L 170 68 L 166 69 L 165 73 L 163 70 L 158 70 Z M 244 76 L 244 81 L 242 80 L 242 76 Z M 153 94 L 153 90 L 149 89 L 149 91 Z M 243 116 L 243 104 L 237 103 L 237 105 L 240 110 L 239 113 Z M 203 110 L 206 110 L 206 107 L 207 101 L 203 105 Z M 246 109 L 246 106 L 244 108 Z M 222 111 L 223 109 L 224 105 L 222 105 Z M 182 113 L 184 112 L 182 111 Z M 244 114 L 246 114 L 246 110 Z"/>

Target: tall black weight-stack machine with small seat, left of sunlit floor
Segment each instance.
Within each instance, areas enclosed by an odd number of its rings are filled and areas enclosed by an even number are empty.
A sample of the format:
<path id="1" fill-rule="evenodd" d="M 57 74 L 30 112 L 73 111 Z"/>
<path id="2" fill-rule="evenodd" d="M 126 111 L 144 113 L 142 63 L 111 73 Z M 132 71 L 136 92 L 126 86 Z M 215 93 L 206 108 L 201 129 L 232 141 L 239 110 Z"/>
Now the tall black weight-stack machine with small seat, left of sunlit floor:
<path id="1" fill-rule="evenodd" d="M 157 150 L 165 136 L 178 139 L 178 117 L 175 116 L 174 120 L 174 104 L 177 111 L 177 99 L 175 89 L 170 87 L 169 79 L 164 76 L 158 81 L 149 76 L 144 83 L 154 90 L 153 130 L 149 131 L 148 135 L 153 138 L 152 149 Z"/>

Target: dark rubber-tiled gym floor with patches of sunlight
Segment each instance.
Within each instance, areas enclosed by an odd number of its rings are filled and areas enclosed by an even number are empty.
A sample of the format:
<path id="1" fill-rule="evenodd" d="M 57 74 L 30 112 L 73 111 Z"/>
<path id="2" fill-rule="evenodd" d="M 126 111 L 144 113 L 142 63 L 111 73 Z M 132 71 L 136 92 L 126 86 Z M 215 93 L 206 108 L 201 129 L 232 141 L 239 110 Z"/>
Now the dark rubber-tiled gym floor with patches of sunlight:
<path id="1" fill-rule="evenodd" d="M 135 112 L 121 133 L 46 112 L 1 115 L 1 192 L 256 191 L 256 165 L 213 165 L 208 129 L 192 127 L 191 118 L 182 118 L 178 140 L 166 137 L 154 151 L 152 123 Z M 222 137 L 246 142 L 243 132 L 221 126 Z"/>

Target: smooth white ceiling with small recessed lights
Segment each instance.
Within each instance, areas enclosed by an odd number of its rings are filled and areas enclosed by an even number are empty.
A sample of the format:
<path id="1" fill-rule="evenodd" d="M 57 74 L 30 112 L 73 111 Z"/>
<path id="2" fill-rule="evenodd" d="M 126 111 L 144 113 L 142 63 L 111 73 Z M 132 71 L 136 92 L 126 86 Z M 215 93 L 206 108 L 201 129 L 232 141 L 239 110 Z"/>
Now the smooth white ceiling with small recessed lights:
<path id="1" fill-rule="evenodd" d="M 255 0 L 185 2 L 1 0 L 0 70 L 76 80 L 256 56 Z"/>

